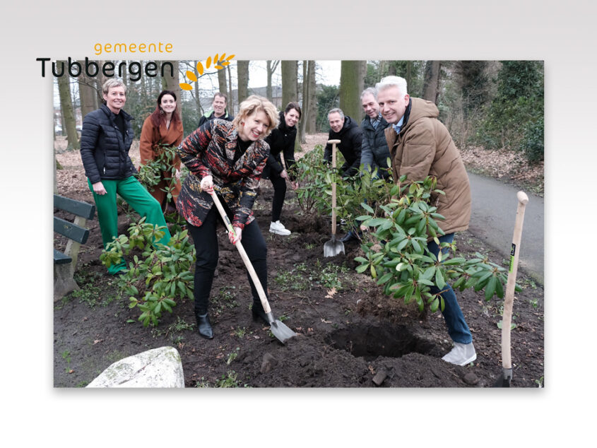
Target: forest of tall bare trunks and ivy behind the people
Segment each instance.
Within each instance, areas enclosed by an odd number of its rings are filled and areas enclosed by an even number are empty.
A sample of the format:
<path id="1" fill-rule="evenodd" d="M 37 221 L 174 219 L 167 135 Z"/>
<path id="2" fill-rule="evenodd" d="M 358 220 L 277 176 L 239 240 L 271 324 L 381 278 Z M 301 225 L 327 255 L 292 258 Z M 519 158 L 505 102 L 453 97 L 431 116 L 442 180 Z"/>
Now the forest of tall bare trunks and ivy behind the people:
<path id="1" fill-rule="evenodd" d="M 114 66 L 121 62 L 112 61 Z M 125 67 L 130 67 L 131 61 L 126 62 Z M 160 73 L 164 62 L 136 61 L 137 72 L 157 63 Z M 196 129 L 201 115 L 210 112 L 213 94 L 219 91 L 227 95 L 231 114 L 237 112 L 239 99 L 253 94 L 268 98 L 280 110 L 298 101 L 303 111 L 297 138 L 300 149 L 307 134 L 329 131 L 327 112 L 333 107 L 360 123 L 362 90 L 384 76 L 398 75 L 406 78 L 410 96 L 435 102 L 439 119 L 461 151 L 476 151 L 478 158 L 479 149 L 497 150 L 515 158 L 521 173 L 534 167 L 527 187 L 543 194 L 543 61 L 235 61 L 234 55 L 215 54 L 204 61 L 168 62 L 173 76 L 168 69 L 164 77 L 133 76 L 126 68 L 122 73 L 128 88 L 125 110 L 136 118 L 137 138 L 161 90 L 177 93 L 185 135 Z M 54 64 L 55 73 L 68 73 L 67 61 Z M 54 136 L 66 136 L 67 150 L 79 148 L 83 117 L 101 104 L 105 79 L 101 71 L 94 77 L 84 71 L 77 78 L 54 76 Z M 187 90 L 181 88 L 184 83 Z M 524 184 L 525 179 L 521 180 Z"/>

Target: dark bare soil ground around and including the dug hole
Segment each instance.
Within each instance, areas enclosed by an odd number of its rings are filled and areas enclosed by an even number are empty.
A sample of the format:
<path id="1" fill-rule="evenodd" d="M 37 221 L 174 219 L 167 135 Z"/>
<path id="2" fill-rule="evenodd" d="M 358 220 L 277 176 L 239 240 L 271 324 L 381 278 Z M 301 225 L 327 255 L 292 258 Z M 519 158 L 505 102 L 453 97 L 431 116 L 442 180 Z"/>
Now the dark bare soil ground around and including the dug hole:
<path id="1" fill-rule="evenodd" d="M 311 136 L 307 150 L 326 139 Z M 131 148 L 138 165 L 138 142 Z M 57 154 L 59 194 L 93 204 L 78 152 Z M 281 344 L 268 327 L 254 323 L 247 274 L 235 247 L 219 228 L 220 259 L 211 297 L 215 337 L 196 333 L 193 302 L 177 299 L 160 324 L 143 327 L 128 297 L 117 297 L 116 281 L 99 261 L 102 240 L 97 219 L 81 247 L 76 278 L 82 286 L 54 304 L 54 387 L 85 387 L 112 362 L 150 348 L 179 350 L 186 387 L 492 387 L 502 374 L 501 307 L 483 292 L 456 292 L 473 333 L 477 359 L 451 365 L 442 315 L 420 314 L 415 305 L 385 296 L 374 281 L 356 273 L 359 244 L 345 254 L 324 257 L 329 219 L 300 216 L 288 189 L 282 222 L 290 236 L 273 235 L 271 182 L 261 182 L 254 213 L 268 244 L 268 289 L 274 315 L 297 336 Z M 119 233 L 136 216 L 119 215 Z M 343 235 L 341 233 L 341 235 Z M 470 232 L 456 235 L 458 254 L 483 252 L 504 266 L 502 256 Z M 66 241 L 55 235 L 54 246 Z M 511 387 L 543 385 L 543 287 L 519 269 L 522 286 L 514 300 Z M 49 298 L 48 298 L 49 300 Z"/>

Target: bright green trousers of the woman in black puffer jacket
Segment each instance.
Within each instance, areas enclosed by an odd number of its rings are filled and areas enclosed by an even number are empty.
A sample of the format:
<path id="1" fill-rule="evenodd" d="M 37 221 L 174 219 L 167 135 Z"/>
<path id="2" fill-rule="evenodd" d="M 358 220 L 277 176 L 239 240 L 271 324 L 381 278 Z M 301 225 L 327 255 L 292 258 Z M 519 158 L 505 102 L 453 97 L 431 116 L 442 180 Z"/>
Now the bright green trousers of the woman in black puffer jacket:
<path id="1" fill-rule="evenodd" d="M 133 208 L 141 217 L 147 217 L 146 223 L 153 225 L 165 225 L 166 220 L 162 213 L 160 203 L 155 200 L 153 196 L 138 182 L 134 177 L 127 177 L 119 180 L 102 180 L 102 184 L 107 191 L 107 194 L 95 194 L 91 182 L 87 179 L 89 189 L 93 193 L 95 199 L 95 208 L 97 208 L 97 220 L 100 222 L 100 230 L 102 231 L 102 242 L 104 249 L 109 242 L 112 242 L 112 237 L 118 237 L 118 210 L 116 204 L 116 195 L 126 201 L 129 206 Z M 170 241 L 170 232 L 166 226 L 165 234 L 161 240 L 156 243 L 168 244 Z M 124 261 L 116 266 L 112 265 L 108 269 L 110 273 L 116 273 L 125 269 Z"/>

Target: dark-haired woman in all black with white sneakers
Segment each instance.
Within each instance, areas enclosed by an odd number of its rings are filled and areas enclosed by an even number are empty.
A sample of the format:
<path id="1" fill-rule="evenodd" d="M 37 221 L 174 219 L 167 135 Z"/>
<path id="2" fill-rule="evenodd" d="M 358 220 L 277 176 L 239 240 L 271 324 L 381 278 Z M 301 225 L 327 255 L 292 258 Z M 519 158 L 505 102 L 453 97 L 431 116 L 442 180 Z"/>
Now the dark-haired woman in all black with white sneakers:
<path id="1" fill-rule="evenodd" d="M 271 131 L 266 138 L 270 154 L 264 170 L 264 177 L 269 177 L 273 185 L 273 202 L 271 205 L 271 224 L 269 231 L 277 235 L 290 235 L 290 230 L 280 223 L 280 214 L 286 197 L 286 179 L 290 180 L 292 189 L 298 187 L 295 177 L 289 174 L 290 167 L 295 163 L 295 139 L 297 123 L 300 120 L 300 106 L 296 102 L 289 102 L 284 112 L 280 112 L 280 124 Z M 284 165 L 280 153 L 284 154 Z"/>

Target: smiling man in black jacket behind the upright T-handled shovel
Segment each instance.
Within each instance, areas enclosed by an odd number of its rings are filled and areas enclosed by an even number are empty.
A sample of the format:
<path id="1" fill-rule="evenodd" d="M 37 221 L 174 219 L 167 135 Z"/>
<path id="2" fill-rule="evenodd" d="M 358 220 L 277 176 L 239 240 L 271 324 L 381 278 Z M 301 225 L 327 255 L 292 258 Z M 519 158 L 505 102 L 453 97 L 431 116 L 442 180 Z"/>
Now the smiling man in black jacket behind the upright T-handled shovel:
<path id="1" fill-rule="evenodd" d="M 328 112 L 330 131 L 328 140 L 340 140 L 337 148 L 344 156 L 344 164 L 340 168 L 342 177 L 357 179 L 361 164 L 362 129 L 352 118 L 345 116 L 341 109 L 336 107 Z M 326 145 L 324 160 L 331 162 L 332 146 Z M 349 230 L 340 241 L 349 242 L 358 240 L 357 234 Z"/>

